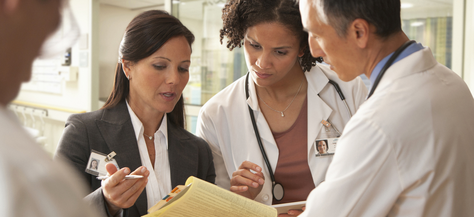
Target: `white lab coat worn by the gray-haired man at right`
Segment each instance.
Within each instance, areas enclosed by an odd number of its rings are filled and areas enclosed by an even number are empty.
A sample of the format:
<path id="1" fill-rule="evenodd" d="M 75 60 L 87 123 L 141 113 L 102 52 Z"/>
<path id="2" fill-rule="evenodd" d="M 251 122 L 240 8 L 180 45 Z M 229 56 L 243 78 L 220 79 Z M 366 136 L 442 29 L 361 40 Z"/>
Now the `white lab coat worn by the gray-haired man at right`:
<path id="1" fill-rule="evenodd" d="M 394 63 L 300 217 L 474 217 L 474 99 L 428 47 Z"/>

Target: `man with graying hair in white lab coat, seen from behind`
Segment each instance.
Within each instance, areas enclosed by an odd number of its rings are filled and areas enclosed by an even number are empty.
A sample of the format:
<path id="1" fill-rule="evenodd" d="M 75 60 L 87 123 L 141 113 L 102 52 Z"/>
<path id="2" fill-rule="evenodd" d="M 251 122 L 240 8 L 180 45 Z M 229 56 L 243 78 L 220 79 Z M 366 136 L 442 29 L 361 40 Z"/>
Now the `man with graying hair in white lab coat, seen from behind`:
<path id="1" fill-rule="evenodd" d="M 473 96 L 402 32 L 400 0 L 300 0 L 300 10 L 313 56 L 342 80 L 372 81 L 301 216 L 473 217 Z"/>

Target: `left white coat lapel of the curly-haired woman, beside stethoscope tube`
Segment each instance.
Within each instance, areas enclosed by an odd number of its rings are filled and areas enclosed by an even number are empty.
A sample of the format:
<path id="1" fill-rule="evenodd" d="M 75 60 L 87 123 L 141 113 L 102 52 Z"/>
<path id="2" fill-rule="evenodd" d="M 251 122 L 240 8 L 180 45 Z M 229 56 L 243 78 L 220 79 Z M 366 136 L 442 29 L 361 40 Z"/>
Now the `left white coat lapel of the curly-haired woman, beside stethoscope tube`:
<path id="1" fill-rule="evenodd" d="M 251 76 L 249 76 L 248 78 L 248 92 L 249 97 L 247 99 L 247 104 L 254 110 L 255 121 L 257 122 L 258 131 L 260 133 L 260 137 L 262 138 L 262 143 L 264 144 L 265 152 L 268 156 L 268 160 L 270 161 L 270 165 L 272 166 L 272 170 L 274 173 L 276 163 L 278 162 L 278 147 L 276 146 L 275 139 L 273 138 L 272 130 L 270 130 L 270 126 L 268 126 L 268 123 L 266 122 L 265 117 L 260 111 L 260 107 L 258 106 L 255 83 Z M 250 120 L 250 115 L 248 116 L 248 119 Z M 253 128 L 252 131 L 254 132 Z"/>

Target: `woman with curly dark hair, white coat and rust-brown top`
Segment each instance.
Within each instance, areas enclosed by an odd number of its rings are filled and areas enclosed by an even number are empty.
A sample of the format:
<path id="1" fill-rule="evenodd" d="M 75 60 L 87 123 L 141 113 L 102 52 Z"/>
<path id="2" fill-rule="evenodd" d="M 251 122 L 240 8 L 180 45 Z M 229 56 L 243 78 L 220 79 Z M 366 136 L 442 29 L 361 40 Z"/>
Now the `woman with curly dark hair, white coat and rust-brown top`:
<path id="1" fill-rule="evenodd" d="M 337 138 L 367 89 L 360 78 L 344 82 L 316 64 L 321 59 L 310 54 L 293 0 L 229 0 L 222 19 L 221 42 L 226 36 L 230 50 L 244 47 L 249 72 L 204 104 L 198 117 L 196 134 L 213 151 L 216 183 L 268 205 L 306 200 L 332 160 L 318 154 L 315 141 Z M 249 107 L 283 198 L 272 193 Z"/>

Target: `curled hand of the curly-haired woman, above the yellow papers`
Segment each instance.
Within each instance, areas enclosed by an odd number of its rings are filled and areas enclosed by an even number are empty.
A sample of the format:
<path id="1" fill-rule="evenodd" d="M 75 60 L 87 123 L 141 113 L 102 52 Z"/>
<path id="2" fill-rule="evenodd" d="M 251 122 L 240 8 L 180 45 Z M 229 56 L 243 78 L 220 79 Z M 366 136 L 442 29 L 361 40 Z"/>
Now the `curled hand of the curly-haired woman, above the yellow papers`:
<path id="1" fill-rule="evenodd" d="M 254 174 L 250 170 L 256 173 Z M 244 161 L 238 167 L 238 170 L 232 174 L 230 191 L 254 200 L 262 191 L 264 183 L 265 176 L 262 173 L 262 167 L 250 161 Z"/>

